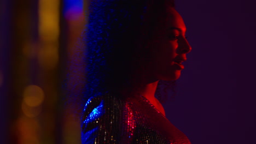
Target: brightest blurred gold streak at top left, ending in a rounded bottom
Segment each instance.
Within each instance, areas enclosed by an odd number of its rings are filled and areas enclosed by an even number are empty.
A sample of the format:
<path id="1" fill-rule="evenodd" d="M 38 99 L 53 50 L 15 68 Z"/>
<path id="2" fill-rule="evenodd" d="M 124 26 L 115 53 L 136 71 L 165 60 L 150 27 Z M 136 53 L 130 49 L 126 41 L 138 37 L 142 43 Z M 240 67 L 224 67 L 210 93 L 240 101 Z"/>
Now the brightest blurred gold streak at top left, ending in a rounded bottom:
<path id="1" fill-rule="evenodd" d="M 58 63 L 59 47 L 59 0 L 39 0 L 39 64 L 43 69 L 53 70 Z"/>

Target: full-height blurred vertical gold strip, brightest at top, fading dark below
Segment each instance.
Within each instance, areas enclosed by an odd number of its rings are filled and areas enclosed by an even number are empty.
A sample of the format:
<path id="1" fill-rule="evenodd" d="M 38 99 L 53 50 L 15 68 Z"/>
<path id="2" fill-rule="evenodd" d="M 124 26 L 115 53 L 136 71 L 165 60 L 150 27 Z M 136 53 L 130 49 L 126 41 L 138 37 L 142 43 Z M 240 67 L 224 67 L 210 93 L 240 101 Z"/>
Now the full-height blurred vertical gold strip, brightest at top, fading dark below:
<path id="1" fill-rule="evenodd" d="M 39 0 L 38 77 L 44 91 L 40 115 L 41 143 L 55 144 L 57 140 L 57 102 L 59 81 L 60 0 Z"/>

